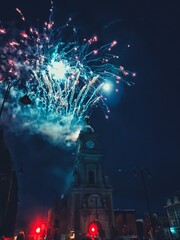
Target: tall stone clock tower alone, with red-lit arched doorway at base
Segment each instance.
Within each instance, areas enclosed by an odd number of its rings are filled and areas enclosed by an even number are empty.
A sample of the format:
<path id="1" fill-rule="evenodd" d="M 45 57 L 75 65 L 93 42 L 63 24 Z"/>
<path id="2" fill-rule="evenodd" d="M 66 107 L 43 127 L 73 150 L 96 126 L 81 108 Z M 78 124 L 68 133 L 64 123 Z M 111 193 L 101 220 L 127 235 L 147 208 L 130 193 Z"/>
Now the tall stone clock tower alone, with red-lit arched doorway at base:
<path id="1" fill-rule="evenodd" d="M 70 225 L 76 236 L 110 239 L 114 225 L 112 188 L 102 171 L 98 135 L 86 124 L 77 141 L 74 183 L 69 202 Z"/>

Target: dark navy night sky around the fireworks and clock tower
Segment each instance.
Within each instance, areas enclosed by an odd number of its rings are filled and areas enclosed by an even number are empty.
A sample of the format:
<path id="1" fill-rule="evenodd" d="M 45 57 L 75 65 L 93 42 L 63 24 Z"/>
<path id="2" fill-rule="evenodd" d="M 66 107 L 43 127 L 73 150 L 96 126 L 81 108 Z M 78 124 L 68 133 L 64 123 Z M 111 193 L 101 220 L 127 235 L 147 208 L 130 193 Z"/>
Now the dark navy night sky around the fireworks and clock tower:
<path id="1" fill-rule="evenodd" d="M 50 3 L 6 0 L 1 19 L 16 19 L 16 7 L 36 23 L 48 19 Z M 133 174 L 142 168 L 152 212 L 163 212 L 167 197 L 180 190 L 178 1 L 56 0 L 54 9 L 56 24 L 72 17 L 80 37 L 97 34 L 102 44 L 117 40 L 120 64 L 137 72 L 135 85 L 122 84 L 119 97 L 109 103 L 109 120 L 99 110 L 91 125 L 100 134 L 114 208 L 136 209 L 138 216 L 146 211 L 140 176 Z M 24 212 L 46 213 L 70 182 L 74 155 L 38 136 L 7 134 L 6 139 L 14 168 L 24 170 L 18 177 L 19 218 Z"/>

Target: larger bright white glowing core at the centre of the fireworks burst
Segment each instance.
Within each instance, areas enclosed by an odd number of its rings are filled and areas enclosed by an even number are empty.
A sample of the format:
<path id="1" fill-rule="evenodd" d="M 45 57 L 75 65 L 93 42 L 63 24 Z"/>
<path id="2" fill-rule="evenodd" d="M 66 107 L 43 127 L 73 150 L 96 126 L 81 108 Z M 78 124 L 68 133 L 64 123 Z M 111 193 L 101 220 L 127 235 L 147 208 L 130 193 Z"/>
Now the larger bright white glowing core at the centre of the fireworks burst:
<path id="1" fill-rule="evenodd" d="M 65 77 L 65 73 L 68 69 L 68 66 L 66 66 L 62 61 L 59 62 L 53 62 L 49 67 L 48 67 L 50 74 L 55 78 L 55 79 L 63 79 Z"/>

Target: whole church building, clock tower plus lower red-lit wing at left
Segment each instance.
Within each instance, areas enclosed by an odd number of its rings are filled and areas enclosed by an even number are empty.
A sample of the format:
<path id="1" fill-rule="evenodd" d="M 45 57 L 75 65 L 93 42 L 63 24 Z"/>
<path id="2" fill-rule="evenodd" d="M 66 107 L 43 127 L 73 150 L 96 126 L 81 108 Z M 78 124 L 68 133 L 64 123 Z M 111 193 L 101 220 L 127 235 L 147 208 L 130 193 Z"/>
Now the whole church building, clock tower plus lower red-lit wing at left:
<path id="1" fill-rule="evenodd" d="M 86 124 L 77 140 L 73 183 L 49 211 L 47 239 L 112 239 L 112 187 L 102 169 L 98 135 Z"/>

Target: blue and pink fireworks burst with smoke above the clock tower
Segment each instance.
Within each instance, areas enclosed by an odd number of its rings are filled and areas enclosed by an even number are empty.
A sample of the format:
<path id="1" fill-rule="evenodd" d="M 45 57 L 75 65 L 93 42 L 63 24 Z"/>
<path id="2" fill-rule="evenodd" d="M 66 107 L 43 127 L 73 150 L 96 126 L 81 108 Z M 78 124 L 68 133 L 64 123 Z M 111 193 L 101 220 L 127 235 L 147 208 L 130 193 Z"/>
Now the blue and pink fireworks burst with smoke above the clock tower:
<path id="1" fill-rule="evenodd" d="M 25 21 L 21 10 L 16 10 Z M 42 30 L 31 26 L 12 34 L 11 28 L 0 26 L 0 97 L 3 99 L 8 86 L 10 127 L 69 143 L 93 107 L 100 107 L 108 118 L 105 92 L 135 73 L 111 63 L 119 58 L 110 53 L 116 41 L 98 48 L 97 36 L 82 43 L 65 42 L 64 28 L 55 29 L 51 17 Z M 117 86 L 115 89 L 118 92 Z M 32 104 L 21 104 L 19 99 L 25 94 Z"/>

